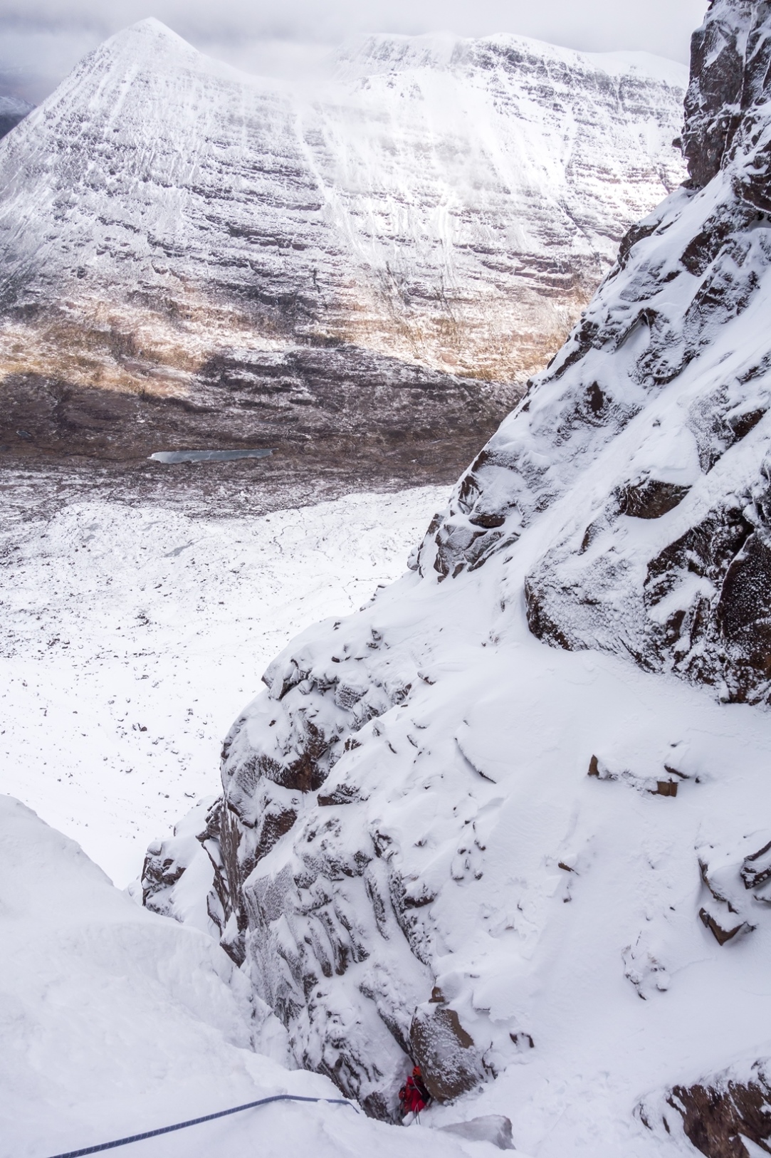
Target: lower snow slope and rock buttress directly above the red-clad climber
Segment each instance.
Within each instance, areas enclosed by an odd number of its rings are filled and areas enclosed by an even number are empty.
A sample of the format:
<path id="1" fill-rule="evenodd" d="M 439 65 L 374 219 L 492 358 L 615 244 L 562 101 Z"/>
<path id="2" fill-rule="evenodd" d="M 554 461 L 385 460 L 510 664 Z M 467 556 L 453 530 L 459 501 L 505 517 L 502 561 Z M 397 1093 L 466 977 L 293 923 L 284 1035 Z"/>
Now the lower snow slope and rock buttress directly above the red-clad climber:
<path id="1" fill-rule="evenodd" d="M 276 661 L 198 820 L 210 911 L 298 1061 L 370 1113 L 412 1057 L 526 1152 L 677 1153 L 638 1102 L 756 1047 L 771 1013 L 765 889 L 741 875 L 771 838 L 769 724 L 545 647 L 526 562 L 407 578 Z M 191 835 L 144 882 L 181 918 Z"/>

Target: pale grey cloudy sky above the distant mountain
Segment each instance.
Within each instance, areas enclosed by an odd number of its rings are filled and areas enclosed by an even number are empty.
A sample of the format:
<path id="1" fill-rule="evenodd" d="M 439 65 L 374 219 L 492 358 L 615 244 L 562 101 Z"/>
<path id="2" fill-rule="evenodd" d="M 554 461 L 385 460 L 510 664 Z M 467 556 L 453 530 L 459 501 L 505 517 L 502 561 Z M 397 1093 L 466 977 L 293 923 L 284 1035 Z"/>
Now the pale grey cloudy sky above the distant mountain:
<path id="1" fill-rule="evenodd" d="M 688 60 L 707 0 L 0 0 L 0 90 L 42 100 L 83 53 L 156 16 L 241 68 L 292 75 L 347 36 L 520 32 L 586 51 Z"/>

